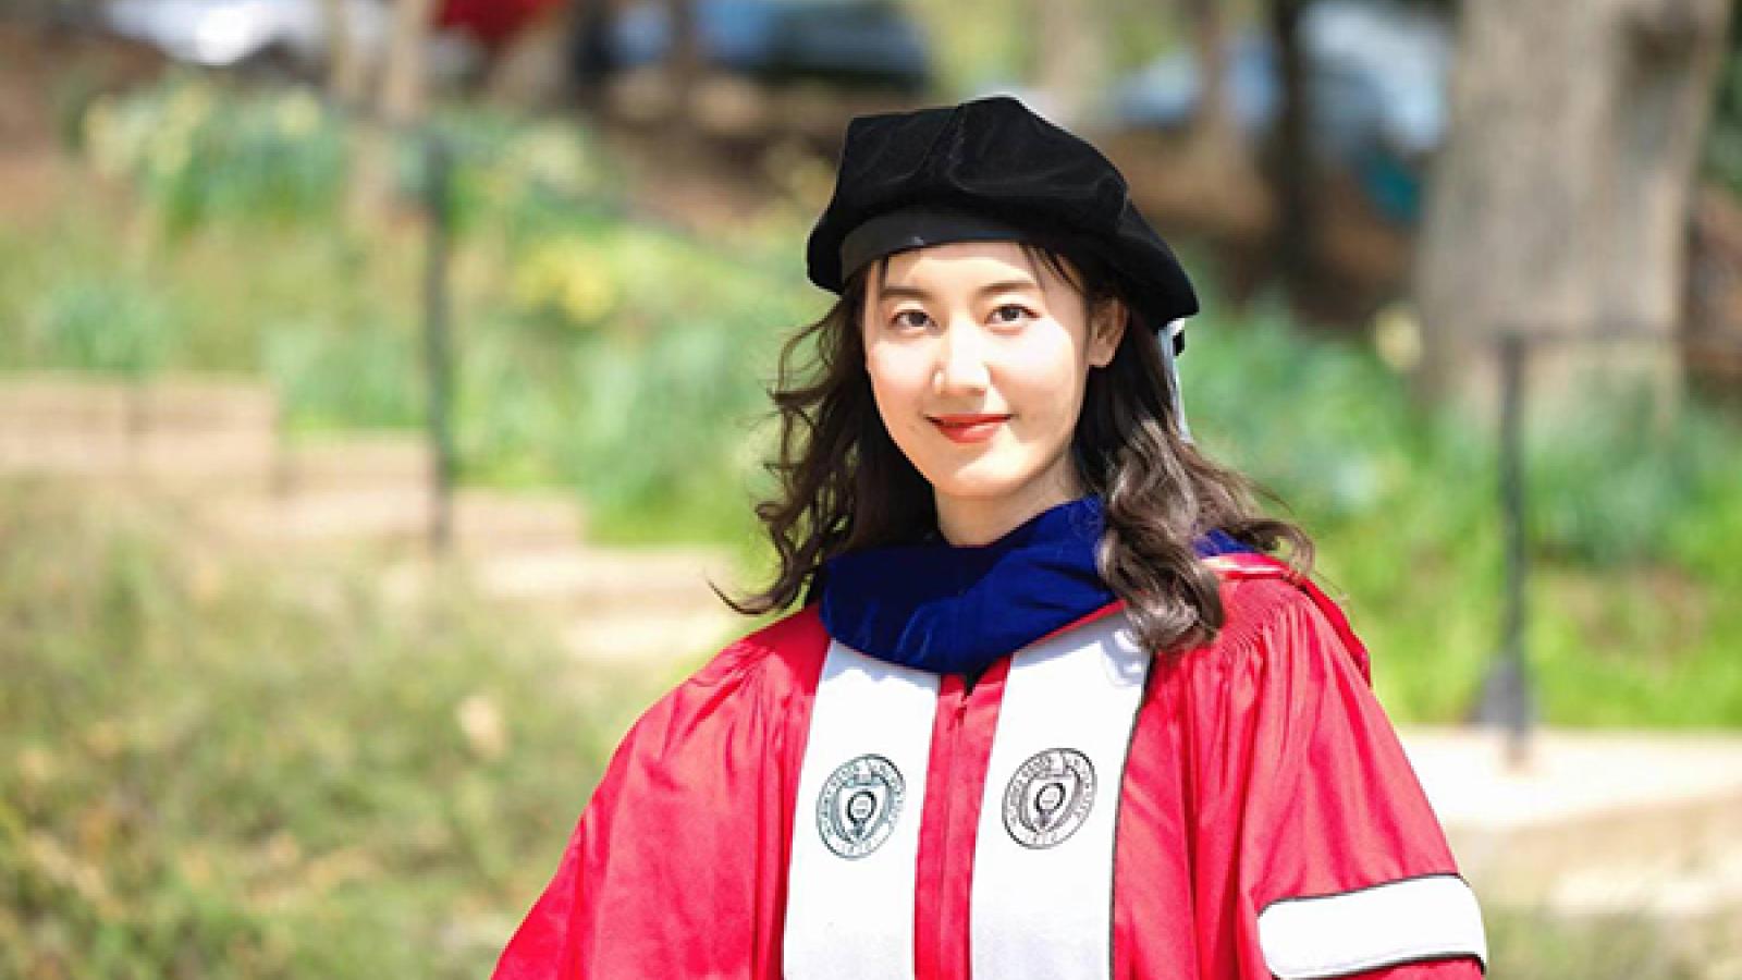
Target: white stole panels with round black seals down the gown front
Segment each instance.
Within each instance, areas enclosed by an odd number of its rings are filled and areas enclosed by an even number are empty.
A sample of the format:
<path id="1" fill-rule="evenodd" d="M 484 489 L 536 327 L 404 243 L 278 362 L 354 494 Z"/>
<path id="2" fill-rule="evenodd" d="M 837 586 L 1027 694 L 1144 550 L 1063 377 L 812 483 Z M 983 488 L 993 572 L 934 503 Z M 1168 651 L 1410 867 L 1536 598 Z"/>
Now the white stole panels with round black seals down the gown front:
<path id="1" fill-rule="evenodd" d="M 976 977 L 1104 980 L 1113 837 L 1150 657 L 1124 614 L 1016 654 L 974 844 Z M 831 643 L 798 779 L 786 977 L 913 977 L 937 675 Z"/>

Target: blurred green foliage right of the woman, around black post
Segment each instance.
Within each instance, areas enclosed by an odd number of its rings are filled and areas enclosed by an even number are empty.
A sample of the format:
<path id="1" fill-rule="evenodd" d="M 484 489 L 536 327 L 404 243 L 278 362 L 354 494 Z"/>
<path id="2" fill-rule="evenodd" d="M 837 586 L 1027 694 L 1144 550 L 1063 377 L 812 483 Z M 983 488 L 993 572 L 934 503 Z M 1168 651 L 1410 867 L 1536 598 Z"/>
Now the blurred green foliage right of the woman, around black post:
<path id="1" fill-rule="evenodd" d="M 1186 412 L 1211 455 L 1275 490 L 1404 720 L 1458 720 L 1500 636 L 1493 434 L 1428 413 L 1369 350 L 1305 340 L 1275 314 L 1202 321 Z M 1742 432 L 1629 398 L 1543 413 L 1526 445 L 1543 715 L 1573 725 L 1739 725 Z"/>

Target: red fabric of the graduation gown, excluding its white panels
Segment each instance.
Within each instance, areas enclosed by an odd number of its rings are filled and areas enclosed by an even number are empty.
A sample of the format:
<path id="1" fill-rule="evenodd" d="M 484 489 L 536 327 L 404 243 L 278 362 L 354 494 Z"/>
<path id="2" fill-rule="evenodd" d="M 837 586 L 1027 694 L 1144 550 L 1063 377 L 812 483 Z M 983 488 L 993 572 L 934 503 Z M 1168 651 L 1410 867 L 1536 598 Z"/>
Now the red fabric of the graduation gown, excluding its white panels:
<path id="1" fill-rule="evenodd" d="M 1117 978 L 1268 980 L 1280 970 L 1258 922 L 1273 903 L 1456 875 L 1336 605 L 1270 558 L 1212 565 L 1225 630 L 1157 659 L 1134 720 L 1113 847 Z M 653 704 L 495 980 L 780 977 L 798 774 L 827 647 L 807 607 Z M 925 980 L 970 975 L 974 835 L 1009 670 L 1005 657 L 972 689 L 939 684 L 916 867 Z M 1481 975 L 1472 956 L 1402 959 L 1319 975 Z"/>

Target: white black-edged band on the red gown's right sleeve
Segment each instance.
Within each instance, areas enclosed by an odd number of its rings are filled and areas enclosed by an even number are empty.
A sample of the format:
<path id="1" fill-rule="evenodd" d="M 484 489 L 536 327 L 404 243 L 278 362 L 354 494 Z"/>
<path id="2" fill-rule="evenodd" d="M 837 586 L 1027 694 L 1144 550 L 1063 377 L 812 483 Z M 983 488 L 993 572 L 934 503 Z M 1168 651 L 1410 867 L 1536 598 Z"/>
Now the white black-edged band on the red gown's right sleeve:
<path id="1" fill-rule="evenodd" d="M 1484 970 L 1488 963 L 1475 893 L 1449 874 L 1272 902 L 1258 914 L 1258 943 L 1279 980 L 1456 956 L 1474 956 Z"/>

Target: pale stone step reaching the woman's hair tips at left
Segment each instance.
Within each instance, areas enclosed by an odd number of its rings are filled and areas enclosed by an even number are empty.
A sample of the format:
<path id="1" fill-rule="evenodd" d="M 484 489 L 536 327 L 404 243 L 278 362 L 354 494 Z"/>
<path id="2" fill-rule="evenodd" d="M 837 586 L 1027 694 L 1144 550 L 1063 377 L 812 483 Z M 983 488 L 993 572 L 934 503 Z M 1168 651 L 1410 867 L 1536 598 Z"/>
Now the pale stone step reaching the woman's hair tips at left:
<path id="1" fill-rule="evenodd" d="M 699 549 L 524 551 L 483 558 L 479 586 L 498 598 L 549 609 L 723 609 L 707 581 L 730 584 L 730 563 Z"/>

